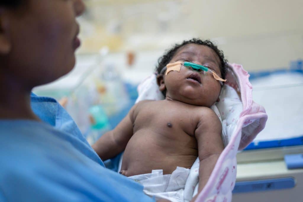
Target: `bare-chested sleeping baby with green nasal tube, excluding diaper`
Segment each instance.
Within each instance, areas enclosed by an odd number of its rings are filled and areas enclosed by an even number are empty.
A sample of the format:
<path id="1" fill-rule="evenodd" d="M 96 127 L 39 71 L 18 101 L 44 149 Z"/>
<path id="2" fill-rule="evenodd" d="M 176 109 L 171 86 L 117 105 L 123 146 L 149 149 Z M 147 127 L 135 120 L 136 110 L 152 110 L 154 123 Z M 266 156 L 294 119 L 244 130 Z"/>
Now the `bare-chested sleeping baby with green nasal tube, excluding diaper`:
<path id="1" fill-rule="evenodd" d="M 189 170 L 199 157 L 200 192 L 224 149 L 222 125 L 210 107 L 219 100 L 226 68 L 223 52 L 211 41 L 175 45 L 156 69 L 165 100 L 138 102 L 93 148 L 102 160 L 125 151 L 120 173 L 127 177 Z"/>

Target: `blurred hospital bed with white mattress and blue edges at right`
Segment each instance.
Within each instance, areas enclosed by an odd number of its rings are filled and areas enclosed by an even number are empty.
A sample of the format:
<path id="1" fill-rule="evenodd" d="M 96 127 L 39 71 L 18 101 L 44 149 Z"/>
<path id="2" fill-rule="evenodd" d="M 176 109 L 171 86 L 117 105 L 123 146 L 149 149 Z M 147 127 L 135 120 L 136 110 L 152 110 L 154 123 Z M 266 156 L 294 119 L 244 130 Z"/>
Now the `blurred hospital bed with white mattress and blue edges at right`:
<path id="1" fill-rule="evenodd" d="M 303 201 L 302 68 L 251 74 L 254 101 L 268 114 L 266 127 L 237 154 L 234 202 Z"/>

